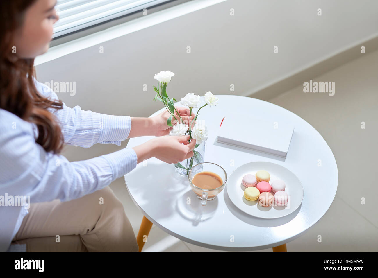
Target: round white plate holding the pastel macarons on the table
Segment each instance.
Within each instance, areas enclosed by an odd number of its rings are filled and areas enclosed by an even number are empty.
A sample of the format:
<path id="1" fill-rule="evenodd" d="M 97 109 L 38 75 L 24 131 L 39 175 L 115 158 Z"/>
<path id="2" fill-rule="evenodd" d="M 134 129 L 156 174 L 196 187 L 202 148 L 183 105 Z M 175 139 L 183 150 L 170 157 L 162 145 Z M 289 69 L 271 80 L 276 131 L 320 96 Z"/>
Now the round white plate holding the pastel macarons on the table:
<path id="1" fill-rule="evenodd" d="M 289 195 L 287 205 L 281 206 L 273 203 L 270 207 L 263 207 L 258 204 L 258 200 L 248 201 L 244 198 L 246 187 L 242 184 L 243 176 L 246 174 L 256 175 L 259 170 L 269 172 L 270 184 L 275 179 L 282 179 L 285 182 L 285 192 Z M 234 205 L 243 212 L 259 218 L 272 219 L 286 216 L 294 212 L 301 205 L 303 199 L 303 187 L 297 176 L 281 165 L 266 161 L 249 162 L 236 168 L 229 176 L 226 187 L 228 196 Z"/>

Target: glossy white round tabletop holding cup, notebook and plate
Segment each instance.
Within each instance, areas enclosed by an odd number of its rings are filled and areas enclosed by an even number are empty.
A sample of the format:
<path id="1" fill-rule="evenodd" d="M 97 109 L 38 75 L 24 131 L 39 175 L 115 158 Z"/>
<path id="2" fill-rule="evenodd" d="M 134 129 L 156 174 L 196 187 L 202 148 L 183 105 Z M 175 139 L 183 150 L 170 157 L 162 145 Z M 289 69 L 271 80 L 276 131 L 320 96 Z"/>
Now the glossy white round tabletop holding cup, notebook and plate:
<path id="1" fill-rule="evenodd" d="M 126 187 L 135 205 L 149 221 L 170 235 L 211 249 L 261 250 L 301 236 L 327 212 L 335 198 L 338 170 L 327 142 L 304 119 L 273 103 L 234 95 L 217 97 L 219 104 L 202 108 L 198 116 L 209 131 L 204 161 L 219 164 L 226 170 L 227 176 L 240 165 L 251 161 L 280 164 L 302 182 L 304 197 L 299 208 L 282 218 L 256 218 L 235 207 L 226 192 L 227 185 L 217 198 L 202 206 L 191 190 L 187 177 L 181 178 L 175 173 L 174 164 L 156 158 L 139 163 L 125 175 Z M 201 100 L 199 107 L 204 104 L 203 96 Z M 161 107 L 163 103 L 158 101 L 156 106 Z M 183 105 L 177 102 L 175 106 Z M 164 107 L 151 116 L 163 110 Z M 194 108 L 193 112 L 197 114 L 197 110 Z M 238 111 L 263 116 L 272 123 L 288 121 L 293 124 L 294 133 L 286 159 L 216 142 L 216 133 L 223 117 Z M 243 119 L 240 121 L 241 125 Z M 135 147 L 151 138 L 130 138 L 127 147 Z"/>

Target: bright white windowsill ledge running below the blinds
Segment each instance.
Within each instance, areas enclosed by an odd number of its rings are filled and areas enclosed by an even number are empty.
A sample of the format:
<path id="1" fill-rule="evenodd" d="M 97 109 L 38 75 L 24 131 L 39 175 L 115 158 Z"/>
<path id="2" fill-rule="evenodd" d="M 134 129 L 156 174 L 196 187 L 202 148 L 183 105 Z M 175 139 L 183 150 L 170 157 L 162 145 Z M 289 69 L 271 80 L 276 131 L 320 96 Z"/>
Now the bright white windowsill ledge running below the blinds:
<path id="1" fill-rule="evenodd" d="M 61 45 L 53 46 L 48 49 L 45 54 L 36 57 L 34 60 L 34 66 L 224 1 L 226 0 L 193 0 L 162 11 L 154 12 L 147 16 L 130 20 L 129 22 L 113 26 L 76 40 L 71 40 L 70 42 L 62 43 Z"/>

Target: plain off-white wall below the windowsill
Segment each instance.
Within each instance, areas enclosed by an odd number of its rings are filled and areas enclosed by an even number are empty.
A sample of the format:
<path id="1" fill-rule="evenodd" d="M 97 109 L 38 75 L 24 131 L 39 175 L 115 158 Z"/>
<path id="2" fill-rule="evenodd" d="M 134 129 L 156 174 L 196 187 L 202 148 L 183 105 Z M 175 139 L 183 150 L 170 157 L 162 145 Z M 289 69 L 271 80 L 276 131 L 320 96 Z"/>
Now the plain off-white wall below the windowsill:
<path id="1" fill-rule="evenodd" d="M 38 65 L 37 77 L 76 82 L 75 96 L 58 93 L 68 106 L 148 117 L 162 108 L 152 101 L 160 70 L 176 74 L 168 95 L 178 100 L 206 91 L 249 95 L 377 35 L 377 10 L 374 0 L 228 0 Z M 81 157 L 116 148 L 101 146 Z"/>

